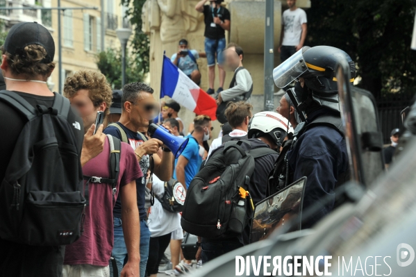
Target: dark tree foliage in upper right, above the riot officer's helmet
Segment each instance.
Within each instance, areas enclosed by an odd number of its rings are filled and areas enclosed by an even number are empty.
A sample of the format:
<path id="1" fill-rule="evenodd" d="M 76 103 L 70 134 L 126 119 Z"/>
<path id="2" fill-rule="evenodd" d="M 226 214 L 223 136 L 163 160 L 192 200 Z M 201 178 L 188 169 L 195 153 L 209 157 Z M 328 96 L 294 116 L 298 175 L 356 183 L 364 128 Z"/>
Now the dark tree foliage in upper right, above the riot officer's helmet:
<path id="1" fill-rule="evenodd" d="M 416 51 L 410 49 L 415 0 L 313 0 L 306 45 L 330 45 L 356 62 L 359 86 L 376 99 L 416 91 Z"/>

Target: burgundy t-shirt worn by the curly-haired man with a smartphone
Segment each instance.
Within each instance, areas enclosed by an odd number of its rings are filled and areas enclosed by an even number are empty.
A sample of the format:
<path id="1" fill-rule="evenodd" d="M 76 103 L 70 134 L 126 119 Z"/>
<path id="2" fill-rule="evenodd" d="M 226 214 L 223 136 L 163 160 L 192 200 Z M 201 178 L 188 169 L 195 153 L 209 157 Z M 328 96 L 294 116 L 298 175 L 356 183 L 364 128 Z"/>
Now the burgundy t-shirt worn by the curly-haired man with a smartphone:
<path id="1" fill-rule="evenodd" d="M 108 139 L 103 151 L 83 166 L 85 176 L 110 178 L 109 169 L 110 146 Z M 65 249 L 64 265 L 98 265 L 108 266 L 113 250 L 113 208 L 119 190 L 123 186 L 142 177 L 138 160 L 130 145 L 122 142 L 120 156 L 119 181 L 116 194 L 112 186 L 106 183 L 89 183 L 90 205 L 85 208 L 84 233 L 79 240 Z"/>

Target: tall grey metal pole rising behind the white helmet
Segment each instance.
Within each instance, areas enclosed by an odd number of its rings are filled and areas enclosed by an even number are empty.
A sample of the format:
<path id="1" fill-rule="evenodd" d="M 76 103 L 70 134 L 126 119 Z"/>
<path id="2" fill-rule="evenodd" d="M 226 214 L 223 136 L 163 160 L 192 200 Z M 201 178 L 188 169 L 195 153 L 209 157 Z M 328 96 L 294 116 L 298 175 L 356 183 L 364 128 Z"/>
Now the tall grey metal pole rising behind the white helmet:
<path id="1" fill-rule="evenodd" d="M 274 110 L 274 0 L 266 0 L 265 22 L 265 106 L 264 110 Z"/>

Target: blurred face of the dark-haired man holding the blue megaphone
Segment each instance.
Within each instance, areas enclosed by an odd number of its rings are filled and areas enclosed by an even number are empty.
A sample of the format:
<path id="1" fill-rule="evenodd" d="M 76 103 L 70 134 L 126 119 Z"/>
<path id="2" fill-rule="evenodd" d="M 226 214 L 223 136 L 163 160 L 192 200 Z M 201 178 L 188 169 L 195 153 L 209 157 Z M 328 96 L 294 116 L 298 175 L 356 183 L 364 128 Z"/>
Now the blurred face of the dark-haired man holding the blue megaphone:
<path id="1" fill-rule="evenodd" d="M 141 92 L 134 102 L 124 103 L 124 110 L 128 112 L 128 117 L 134 126 L 148 127 L 149 120 L 156 116 L 156 101 L 153 99 L 153 94 Z"/>

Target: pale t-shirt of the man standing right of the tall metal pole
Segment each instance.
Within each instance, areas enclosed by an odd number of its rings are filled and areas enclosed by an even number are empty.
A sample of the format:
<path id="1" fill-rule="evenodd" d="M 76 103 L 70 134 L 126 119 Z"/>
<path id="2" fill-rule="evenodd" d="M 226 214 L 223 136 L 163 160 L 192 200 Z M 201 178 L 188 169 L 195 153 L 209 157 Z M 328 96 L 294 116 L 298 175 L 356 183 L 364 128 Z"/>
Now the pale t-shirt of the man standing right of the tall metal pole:
<path id="1" fill-rule="evenodd" d="M 306 12 L 301 8 L 285 10 L 282 24 L 284 28 L 283 43 L 285 46 L 297 46 L 301 41 L 302 24 L 308 23 Z"/>

